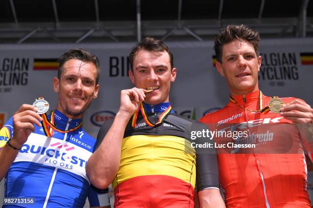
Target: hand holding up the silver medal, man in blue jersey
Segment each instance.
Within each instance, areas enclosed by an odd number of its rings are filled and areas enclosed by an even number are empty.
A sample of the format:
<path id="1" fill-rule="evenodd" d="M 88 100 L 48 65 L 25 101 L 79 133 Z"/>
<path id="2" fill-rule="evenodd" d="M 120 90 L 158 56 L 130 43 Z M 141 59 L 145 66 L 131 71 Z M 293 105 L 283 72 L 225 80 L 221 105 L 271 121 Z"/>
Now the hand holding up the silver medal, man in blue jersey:
<path id="1" fill-rule="evenodd" d="M 23 104 L 13 115 L 14 136 L 10 144 L 15 148 L 21 148 L 27 141 L 31 132 L 35 131 L 35 126 L 41 127 L 42 118 L 37 113 L 37 108 L 32 105 Z"/>

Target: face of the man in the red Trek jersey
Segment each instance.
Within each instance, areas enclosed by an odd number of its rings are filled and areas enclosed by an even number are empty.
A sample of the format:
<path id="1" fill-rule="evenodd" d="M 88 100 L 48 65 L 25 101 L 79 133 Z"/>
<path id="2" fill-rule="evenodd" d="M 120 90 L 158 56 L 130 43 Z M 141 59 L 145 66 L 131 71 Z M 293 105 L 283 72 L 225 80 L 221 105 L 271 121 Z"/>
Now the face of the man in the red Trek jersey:
<path id="1" fill-rule="evenodd" d="M 231 95 L 252 93 L 258 90 L 258 71 L 261 56 L 257 57 L 253 45 L 245 40 L 235 40 L 223 45 L 222 63 L 216 68 L 226 78 Z"/>

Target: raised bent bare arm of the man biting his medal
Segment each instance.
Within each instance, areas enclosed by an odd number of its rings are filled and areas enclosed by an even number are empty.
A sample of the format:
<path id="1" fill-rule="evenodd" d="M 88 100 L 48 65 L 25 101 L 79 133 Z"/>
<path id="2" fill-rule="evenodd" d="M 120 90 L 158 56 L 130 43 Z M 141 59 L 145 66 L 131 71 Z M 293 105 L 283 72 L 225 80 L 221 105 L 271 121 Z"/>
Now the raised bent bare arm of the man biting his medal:
<path id="1" fill-rule="evenodd" d="M 120 109 L 98 149 L 87 162 L 86 173 L 91 183 L 105 189 L 117 174 L 121 160 L 121 148 L 126 125 L 145 99 L 145 89 L 121 91 Z"/>

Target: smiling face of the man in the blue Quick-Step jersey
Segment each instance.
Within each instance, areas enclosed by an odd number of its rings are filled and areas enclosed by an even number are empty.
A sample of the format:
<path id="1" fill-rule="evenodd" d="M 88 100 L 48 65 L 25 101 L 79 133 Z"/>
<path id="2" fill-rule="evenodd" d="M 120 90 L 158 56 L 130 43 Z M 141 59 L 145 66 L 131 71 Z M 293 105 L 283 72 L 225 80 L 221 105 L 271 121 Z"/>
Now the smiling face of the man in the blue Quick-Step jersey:
<path id="1" fill-rule="evenodd" d="M 95 64 L 77 59 L 66 61 L 60 80 L 53 79 L 54 91 L 58 93 L 57 109 L 71 119 L 82 118 L 92 99 L 98 96 L 96 76 Z"/>

